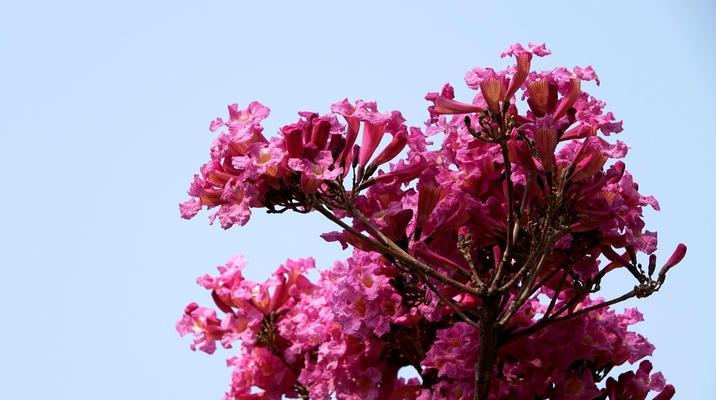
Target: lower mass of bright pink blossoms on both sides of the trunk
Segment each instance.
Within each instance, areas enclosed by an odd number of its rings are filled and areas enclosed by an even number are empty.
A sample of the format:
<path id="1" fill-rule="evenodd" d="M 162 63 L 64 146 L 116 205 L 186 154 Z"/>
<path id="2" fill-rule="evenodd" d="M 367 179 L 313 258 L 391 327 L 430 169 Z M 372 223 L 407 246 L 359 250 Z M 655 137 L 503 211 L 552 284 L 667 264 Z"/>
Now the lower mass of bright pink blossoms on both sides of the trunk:
<path id="1" fill-rule="evenodd" d="M 429 322 L 389 283 L 399 271 L 356 250 L 311 283 L 312 259 L 287 261 L 263 283 L 243 279 L 240 258 L 198 283 L 211 290 L 216 308 L 187 306 L 177 330 L 194 337 L 192 349 L 209 354 L 240 341 L 227 399 L 466 399 L 474 390 L 479 330 L 453 316 Z M 597 300 L 586 299 L 580 307 Z M 533 322 L 544 306 L 522 310 Z M 629 330 L 643 320 L 636 309 L 602 309 L 555 325 L 502 348 L 495 398 L 645 399 L 650 391 L 670 398 L 674 389 L 651 364 L 596 382 L 610 369 L 651 355 L 654 347 Z M 422 371 L 422 382 L 399 376 L 402 367 Z"/>

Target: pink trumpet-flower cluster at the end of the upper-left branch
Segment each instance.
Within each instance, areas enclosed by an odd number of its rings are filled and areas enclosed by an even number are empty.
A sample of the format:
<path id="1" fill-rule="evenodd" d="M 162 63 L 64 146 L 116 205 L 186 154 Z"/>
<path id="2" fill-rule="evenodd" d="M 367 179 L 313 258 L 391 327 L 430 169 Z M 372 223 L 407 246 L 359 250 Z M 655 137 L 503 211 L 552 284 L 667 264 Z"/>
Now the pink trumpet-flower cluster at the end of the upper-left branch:
<path id="1" fill-rule="evenodd" d="M 218 118 L 211 123 L 212 132 L 225 131 L 212 144 L 211 161 L 194 176 L 191 199 L 179 206 L 182 218 L 193 218 L 203 207 L 218 207 L 211 221 L 218 218 L 228 229 L 246 224 L 251 208 L 305 211 L 310 208 L 307 195 L 325 182 L 342 179 L 353 163 L 365 166 L 386 133 L 393 140 L 373 165 L 392 160 L 407 143 L 405 120 L 397 111 L 380 113 L 375 102 L 359 100 L 353 105 L 347 99 L 331 109 L 328 115 L 301 112 L 296 123 L 282 127 L 280 137 L 269 140 L 260 125 L 269 115 L 267 107 L 258 102 L 245 110 L 230 105 L 228 121 Z M 361 126 L 362 143 L 357 145 Z"/>

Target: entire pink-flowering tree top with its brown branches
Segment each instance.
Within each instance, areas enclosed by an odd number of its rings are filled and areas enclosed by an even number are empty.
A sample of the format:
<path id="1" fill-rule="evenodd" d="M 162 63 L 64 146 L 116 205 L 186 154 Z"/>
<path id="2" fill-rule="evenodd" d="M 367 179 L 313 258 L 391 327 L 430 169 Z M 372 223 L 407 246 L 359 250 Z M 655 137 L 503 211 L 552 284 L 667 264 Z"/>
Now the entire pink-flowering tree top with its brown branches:
<path id="1" fill-rule="evenodd" d="M 642 214 L 658 202 L 626 171 L 627 146 L 606 138 L 622 122 L 583 90 L 600 82 L 592 67 L 533 71 L 549 54 L 516 44 L 502 54 L 514 65 L 472 69 L 471 101 L 450 84 L 428 93 L 423 128 L 347 99 L 271 138 L 257 102 L 212 122 L 221 132 L 182 217 L 218 208 L 212 222 L 230 228 L 252 208 L 318 211 L 340 228 L 322 237 L 353 247 L 315 282 L 312 259 L 263 283 L 244 279 L 241 258 L 199 278 L 216 308 L 191 303 L 177 330 L 207 353 L 241 343 L 227 399 L 674 395 L 645 360 L 654 347 L 630 330 L 642 315 L 609 306 L 658 291 L 686 247 L 656 274 Z M 634 289 L 595 295 L 613 271 Z"/>

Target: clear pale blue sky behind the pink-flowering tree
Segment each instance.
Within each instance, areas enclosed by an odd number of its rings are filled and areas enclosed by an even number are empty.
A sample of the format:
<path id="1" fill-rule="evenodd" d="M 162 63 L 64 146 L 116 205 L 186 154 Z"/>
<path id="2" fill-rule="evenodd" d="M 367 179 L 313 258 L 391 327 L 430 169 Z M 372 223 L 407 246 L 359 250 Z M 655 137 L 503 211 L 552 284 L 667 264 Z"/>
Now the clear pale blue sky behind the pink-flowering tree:
<path id="1" fill-rule="evenodd" d="M 210 302 L 195 278 L 234 254 L 254 279 L 343 254 L 318 216 L 180 220 L 209 121 L 257 99 L 272 133 L 347 96 L 420 125 L 427 91 L 468 99 L 465 71 L 530 40 L 554 52 L 536 68 L 592 64 L 602 86 L 585 87 L 624 119 L 662 260 L 689 246 L 637 329 L 676 398 L 716 398 L 714 3 L 333 3 L 0 1 L 0 398 L 220 398 L 230 352 L 174 331 Z"/>

